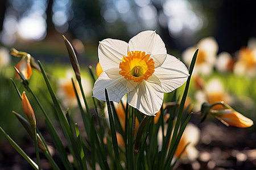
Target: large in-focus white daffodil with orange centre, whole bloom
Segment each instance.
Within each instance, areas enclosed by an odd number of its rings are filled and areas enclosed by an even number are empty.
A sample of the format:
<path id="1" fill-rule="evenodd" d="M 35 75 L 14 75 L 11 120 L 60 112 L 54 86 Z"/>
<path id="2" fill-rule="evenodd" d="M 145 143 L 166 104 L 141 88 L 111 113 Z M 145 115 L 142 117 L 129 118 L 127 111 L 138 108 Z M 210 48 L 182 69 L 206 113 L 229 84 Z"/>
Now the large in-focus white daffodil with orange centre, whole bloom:
<path id="1" fill-rule="evenodd" d="M 154 116 L 163 104 L 164 92 L 171 92 L 187 81 L 188 69 L 166 47 L 155 31 L 143 31 L 129 43 L 105 39 L 98 46 L 103 72 L 93 87 L 93 97 L 119 103 L 127 94 L 129 105 Z"/>

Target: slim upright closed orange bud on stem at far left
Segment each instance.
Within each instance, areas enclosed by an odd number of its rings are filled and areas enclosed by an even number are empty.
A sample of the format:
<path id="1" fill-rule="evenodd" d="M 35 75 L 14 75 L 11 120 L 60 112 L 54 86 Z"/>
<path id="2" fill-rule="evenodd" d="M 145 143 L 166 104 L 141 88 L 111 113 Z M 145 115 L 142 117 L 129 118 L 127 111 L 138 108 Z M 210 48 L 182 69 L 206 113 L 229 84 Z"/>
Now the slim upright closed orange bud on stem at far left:
<path id="1" fill-rule="evenodd" d="M 22 107 L 23 107 L 23 111 L 25 112 L 28 118 L 28 121 L 30 122 L 31 127 L 35 129 L 36 128 L 35 114 L 30 105 L 30 101 L 28 101 L 26 93 L 24 91 L 22 94 Z"/>

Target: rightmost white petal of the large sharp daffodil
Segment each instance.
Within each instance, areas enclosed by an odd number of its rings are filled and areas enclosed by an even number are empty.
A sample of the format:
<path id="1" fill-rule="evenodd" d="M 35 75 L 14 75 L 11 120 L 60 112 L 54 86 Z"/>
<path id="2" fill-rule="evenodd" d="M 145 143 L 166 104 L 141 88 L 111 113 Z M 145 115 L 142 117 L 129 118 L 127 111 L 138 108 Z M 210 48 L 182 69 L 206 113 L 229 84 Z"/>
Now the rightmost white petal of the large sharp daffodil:
<path id="1" fill-rule="evenodd" d="M 155 69 L 164 92 L 171 92 L 184 84 L 188 79 L 188 69 L 183 62 L 167 54 L 163 64 Z"/>

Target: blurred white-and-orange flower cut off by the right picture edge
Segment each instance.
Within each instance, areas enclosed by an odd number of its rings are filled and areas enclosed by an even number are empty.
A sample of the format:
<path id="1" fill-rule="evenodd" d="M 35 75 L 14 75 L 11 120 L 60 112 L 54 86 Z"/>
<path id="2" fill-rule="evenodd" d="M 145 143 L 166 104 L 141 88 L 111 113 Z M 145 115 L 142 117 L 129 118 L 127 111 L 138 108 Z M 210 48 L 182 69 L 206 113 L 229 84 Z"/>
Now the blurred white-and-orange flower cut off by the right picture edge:
<path id="1" fill-rule="evenodd" d="M 256 40 L 250 39 L 247 47 L 238 51 L 238 61 L 234 65 L 236 75 L 256 75 Z"/>

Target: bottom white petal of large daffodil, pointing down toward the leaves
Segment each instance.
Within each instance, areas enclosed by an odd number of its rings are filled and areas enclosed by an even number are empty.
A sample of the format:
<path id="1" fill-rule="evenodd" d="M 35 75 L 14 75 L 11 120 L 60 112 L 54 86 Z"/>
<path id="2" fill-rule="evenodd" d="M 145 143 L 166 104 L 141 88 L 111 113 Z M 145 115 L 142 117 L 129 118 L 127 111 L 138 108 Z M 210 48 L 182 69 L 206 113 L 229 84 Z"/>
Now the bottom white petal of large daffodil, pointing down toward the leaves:
<path id="1" fill-rule="evenodd" d="M 147 81 L 139 83 L 137 88 L 127 94 L 129 105 L 140 112 L 155 116 L 163 104 L 163 91 L 159 79 L 152 75 Z"/>

